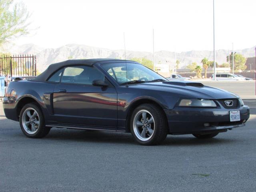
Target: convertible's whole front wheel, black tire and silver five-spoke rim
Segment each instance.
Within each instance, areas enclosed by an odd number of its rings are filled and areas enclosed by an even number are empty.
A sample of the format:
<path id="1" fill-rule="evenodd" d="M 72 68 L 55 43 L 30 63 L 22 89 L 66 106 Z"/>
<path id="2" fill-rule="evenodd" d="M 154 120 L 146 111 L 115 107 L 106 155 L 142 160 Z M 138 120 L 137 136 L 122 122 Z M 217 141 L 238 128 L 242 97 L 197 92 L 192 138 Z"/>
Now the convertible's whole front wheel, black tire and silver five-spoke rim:
<path id="1" fill-rule="evenodd" d="M 142 104 L 132 113 L 130 130 L 142 145 L 156 145 L 167 136 L 166 120 L 162 110 L 154 104 Z"/>

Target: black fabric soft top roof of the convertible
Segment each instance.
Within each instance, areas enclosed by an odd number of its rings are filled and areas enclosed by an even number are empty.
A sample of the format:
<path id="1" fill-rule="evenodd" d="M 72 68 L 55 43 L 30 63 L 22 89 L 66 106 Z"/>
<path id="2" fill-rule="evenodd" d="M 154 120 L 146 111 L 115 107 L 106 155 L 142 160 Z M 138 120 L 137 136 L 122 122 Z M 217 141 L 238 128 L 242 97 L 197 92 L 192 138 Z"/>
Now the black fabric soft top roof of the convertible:
<path id="1" fill-rule="evenodd" d="M 73 59 L 73 60 L 66 60 L 59 63 L 50 64 L 48 68 L 42 72 L 40 75 L 38 75 L 36 78 L 33 79 L 33 81 L 46 81 L 50 75 L 55 72 L 56 70 L 64 67 L 64 66 L 72 66 L 72 65 L 87 65 L 87 66 L 93 66 L 97 62 L 108 62 L 108 61 L 119 61 L 119 62 L 125 62 L 125 60 L 120 59 Z M 127 62 L 131 62 L 128 61 Z M 133 61 L 134 62 L 134 61 Z"/>

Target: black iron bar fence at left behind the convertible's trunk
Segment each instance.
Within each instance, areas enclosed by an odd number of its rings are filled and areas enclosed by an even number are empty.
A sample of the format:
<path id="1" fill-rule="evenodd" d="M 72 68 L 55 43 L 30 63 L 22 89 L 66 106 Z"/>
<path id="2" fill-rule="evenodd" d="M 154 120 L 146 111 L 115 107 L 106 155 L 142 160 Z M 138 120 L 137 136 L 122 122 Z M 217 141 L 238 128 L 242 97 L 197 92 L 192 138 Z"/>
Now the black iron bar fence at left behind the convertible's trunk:
<path id="1" fill-rule="evenodd" d="M 36 76 L 36 56 L 1 55 L 0 76 L 5 76 L 7 80 L 11 77 Z"/>

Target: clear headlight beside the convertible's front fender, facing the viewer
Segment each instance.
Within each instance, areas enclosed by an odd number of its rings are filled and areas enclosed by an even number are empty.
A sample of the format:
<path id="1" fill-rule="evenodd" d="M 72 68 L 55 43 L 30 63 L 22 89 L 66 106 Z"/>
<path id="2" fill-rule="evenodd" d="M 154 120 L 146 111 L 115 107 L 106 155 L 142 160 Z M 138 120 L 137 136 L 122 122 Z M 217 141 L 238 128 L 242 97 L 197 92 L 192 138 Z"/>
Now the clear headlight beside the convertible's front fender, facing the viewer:
<path id="1" fill-rule="evenodd" d="M 182 99 L 179 106 L 181 107 L 216 107 L 216 103 L 209 99 Z"/>

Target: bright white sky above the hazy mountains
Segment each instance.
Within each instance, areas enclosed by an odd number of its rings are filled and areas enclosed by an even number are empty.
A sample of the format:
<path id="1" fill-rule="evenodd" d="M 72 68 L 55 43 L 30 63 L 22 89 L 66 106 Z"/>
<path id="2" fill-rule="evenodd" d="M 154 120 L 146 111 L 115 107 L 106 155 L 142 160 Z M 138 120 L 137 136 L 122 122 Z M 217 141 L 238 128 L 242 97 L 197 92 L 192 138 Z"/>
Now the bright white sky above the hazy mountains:
<path id="1" fill-rule="evenodd" d="M 213 0 L 22 0 L 32 32 L 15 44 L 112 50 L 213 50 Z M 256 0 L 215 0 L 215 47 L 256 45 Z"/>

